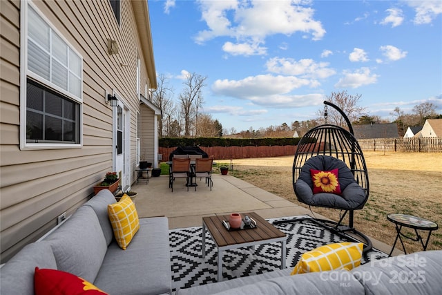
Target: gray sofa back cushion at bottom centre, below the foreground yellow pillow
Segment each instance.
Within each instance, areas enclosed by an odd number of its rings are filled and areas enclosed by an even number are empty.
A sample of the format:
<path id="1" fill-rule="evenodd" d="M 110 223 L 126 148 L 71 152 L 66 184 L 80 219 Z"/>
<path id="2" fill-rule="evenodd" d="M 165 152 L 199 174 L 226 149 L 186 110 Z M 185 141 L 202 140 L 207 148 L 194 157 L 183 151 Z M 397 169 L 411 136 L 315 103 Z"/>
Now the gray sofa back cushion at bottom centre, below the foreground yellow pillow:
<path id="1" fill-rule="evenodd" d="M 364 295 L 364 287 L 346 270 L 280 276 L 216 294 L 236 295 Z"/>

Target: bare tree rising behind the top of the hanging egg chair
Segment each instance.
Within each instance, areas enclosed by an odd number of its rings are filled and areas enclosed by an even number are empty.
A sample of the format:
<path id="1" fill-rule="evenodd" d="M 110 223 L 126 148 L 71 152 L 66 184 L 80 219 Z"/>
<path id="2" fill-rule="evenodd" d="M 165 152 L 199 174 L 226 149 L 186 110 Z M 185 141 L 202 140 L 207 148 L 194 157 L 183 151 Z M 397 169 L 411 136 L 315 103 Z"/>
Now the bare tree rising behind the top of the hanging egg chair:
<path id="1" fill-rule="evenodd" d="M 332 104 L 336 104 L 347 117 L 349 118 L 350 122 L 354 122 L 358 120 L 358 117 L 361 115 L 364 115 L 365 108 L 358 106 L 359 99 L 361 99 L 360 94 L 356 95 L 350 95 L 347 93 L 347 91 L 340 91 L 340 92 L 332 92 L 332 95 L 327 95 L 327 100 L 329 102 L 332 102 Z M 338 111 L 336 111 L 334 108 L 329 107 L 327 108 L 327 121 L 332 124 L 336 124 L 341 127 L 347 126 L 344 118 Z M 320 117 L 324 117 L 324 111 L 319 111 Z M 318 120 L 321 120 L 318 118 Z"/>

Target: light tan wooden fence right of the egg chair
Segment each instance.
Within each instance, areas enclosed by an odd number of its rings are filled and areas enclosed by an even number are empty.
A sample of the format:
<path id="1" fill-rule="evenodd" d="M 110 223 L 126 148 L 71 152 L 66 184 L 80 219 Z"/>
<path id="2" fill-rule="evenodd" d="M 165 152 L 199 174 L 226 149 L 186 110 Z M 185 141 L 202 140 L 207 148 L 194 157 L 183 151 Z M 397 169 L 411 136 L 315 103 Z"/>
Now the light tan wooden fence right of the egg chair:
<path id="1" fill-rule="evenodd" d="M 442 137 L 358 140 L 363 151 L 442 152 Z"/>

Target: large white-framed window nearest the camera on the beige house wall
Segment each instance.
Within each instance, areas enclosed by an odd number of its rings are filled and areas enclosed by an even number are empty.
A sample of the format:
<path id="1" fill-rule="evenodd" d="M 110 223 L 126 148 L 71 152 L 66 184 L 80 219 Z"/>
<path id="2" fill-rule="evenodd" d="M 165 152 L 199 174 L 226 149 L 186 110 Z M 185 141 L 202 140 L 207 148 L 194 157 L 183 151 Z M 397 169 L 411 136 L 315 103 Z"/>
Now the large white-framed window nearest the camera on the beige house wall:
<path id="1" fill-rule="evenodd" d="M 23 3 L 20 147 L 81 147 L 83 58 L 31 1 Z"/>

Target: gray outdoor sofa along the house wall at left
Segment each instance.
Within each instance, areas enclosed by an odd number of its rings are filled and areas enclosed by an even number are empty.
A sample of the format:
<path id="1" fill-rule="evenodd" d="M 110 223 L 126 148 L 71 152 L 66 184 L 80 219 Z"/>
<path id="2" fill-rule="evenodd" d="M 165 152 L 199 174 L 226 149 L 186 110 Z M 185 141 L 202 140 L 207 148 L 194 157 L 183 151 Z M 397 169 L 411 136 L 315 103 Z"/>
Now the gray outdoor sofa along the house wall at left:
<path id="1" fill-rule="evenodd" d="M 0 269 L 0 293 L 34 294 L 35 267 L 75 274 L 108 294 L 171 294 L 169 222 L 140 218 L 140 229 L 126 250 L 113 236 L 102 190 L 66 222 L 37 242 L 23 247 Z"/>

